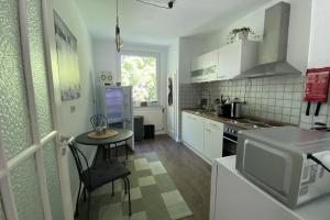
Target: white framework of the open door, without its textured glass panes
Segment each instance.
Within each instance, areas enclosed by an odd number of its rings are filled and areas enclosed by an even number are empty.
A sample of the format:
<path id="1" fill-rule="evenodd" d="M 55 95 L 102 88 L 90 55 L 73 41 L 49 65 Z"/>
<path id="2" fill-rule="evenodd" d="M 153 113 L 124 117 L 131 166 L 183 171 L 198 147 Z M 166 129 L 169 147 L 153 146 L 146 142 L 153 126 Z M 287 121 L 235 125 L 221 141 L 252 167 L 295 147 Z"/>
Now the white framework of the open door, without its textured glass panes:
<path id="1" fill-rule="evenodd" d="M 28 106 L 29 106 L 29 118 L 31 122 L 32 141 L 33 144 L 28 148 L 20 152 L 14 157 L 7 160 L 4 154 L 3 139 L 0 134 L 0 191 L 2 198 L 3 211 L 7 219 L 19 220 L 18 210 L 14 204 L 13 191 L 11 189 L 10 170 L 15 168 L 28 158 L 34 157 L 36 165 L 36 178 L 40 187 L 41 202 L 43 216 L 46 220 L 52 220 L 52 211 L 50 204 L 50 196 L 47 190 L 46 175 L 44 169 L 44 162 L 42 151 L 43 147 L 51 141 L 55 142 L 56 157 L 58 164 L 58 175 L 61 194 L 63 195 L 63 211 L 65 220 L 74 219 L 66 145 L 62 144 L 58 132 L 58 119 L 57 109 L 61 105 L 58 102 L 59 96 L 59 80 L 57 76 L 57 66 L 53 62 L 56 57 L 56 44 L 55 44 L 55 30 L 54 30 L 54 15 L 53 15 L 53 2 L 52 0 L 41 0 L 42 6 L 42 22 L 44 31 L 44 51 L 45 51 L 45 65 L 47 73 L 50 106 L 52 110 L 53 119 L 53 131 L 46 136 L 41 136 L 37 124 L 37 111 L 33 85 L 33 76 L 31 69 L 30 59 L 30 40 L 28 31 L 28 12 L 26 12 L 26 0 L 18 0 L 18 14 L 19 14 L 19 29 L 21 38 L 21 56 L 23 63 L 23 74 L 25 79 L 25 88 L 28 94 Z M 55 56 L 54 56 L 55 55 Z M 0 130 L 2 130 L 0 124 Z"/>

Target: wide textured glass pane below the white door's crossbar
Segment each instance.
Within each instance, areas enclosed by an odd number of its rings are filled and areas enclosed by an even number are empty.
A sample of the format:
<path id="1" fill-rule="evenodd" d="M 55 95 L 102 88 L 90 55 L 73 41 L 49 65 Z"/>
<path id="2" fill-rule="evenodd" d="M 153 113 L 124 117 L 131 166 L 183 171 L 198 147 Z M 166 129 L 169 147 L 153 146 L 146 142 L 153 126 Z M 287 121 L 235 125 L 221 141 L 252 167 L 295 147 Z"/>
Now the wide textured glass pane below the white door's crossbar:
<path id="1" fill-rule="evenodd" d="M 14 202 L 20 220 L 43 220 L 35 160 L 31 157 L 10 174 Z"/>

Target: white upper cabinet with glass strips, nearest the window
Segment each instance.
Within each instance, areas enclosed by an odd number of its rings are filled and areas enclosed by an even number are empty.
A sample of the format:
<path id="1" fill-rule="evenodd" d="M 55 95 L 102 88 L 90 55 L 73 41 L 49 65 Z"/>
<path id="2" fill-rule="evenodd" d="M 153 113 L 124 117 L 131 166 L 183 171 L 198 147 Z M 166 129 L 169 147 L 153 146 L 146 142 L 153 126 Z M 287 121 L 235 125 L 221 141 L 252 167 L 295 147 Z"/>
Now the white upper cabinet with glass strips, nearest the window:
<path id="1" fill-rule="evenodd" d="M 218 50 L 198 56 L 191 62 L 191 82 L 217 80 Z"/>

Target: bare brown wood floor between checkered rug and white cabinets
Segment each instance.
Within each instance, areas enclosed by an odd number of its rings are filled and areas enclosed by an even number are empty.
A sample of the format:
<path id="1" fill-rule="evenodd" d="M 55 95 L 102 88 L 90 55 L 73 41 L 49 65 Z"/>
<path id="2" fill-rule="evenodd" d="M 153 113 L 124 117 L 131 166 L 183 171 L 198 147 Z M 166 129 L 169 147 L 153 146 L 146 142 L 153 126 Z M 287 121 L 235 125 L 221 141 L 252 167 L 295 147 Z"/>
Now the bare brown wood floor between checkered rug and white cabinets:
<path id="1" fill-rule="evenodd" d="M 194 217 L 185 220 L 208 220 L 211 166 L 183 144 L 167 135 L 135 142 L 136 153 L 156 152 L 167 173 L 182 193 Z"/>

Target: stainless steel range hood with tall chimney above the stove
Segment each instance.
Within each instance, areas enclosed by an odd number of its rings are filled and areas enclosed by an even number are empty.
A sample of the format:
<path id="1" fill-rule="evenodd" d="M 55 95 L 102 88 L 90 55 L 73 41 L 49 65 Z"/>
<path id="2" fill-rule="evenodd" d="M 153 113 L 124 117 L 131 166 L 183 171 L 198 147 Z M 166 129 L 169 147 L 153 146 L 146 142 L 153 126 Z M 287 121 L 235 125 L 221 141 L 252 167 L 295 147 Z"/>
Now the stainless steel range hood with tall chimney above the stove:
<path id="1" fill-rule="evenodd" d="M 301 73 L 286 61 L 290 4 L 279 2 L 265 12 L 264 40 L 260 43 L 258 64 L 238 78 L 279 75 L 300 75 Z"/>

